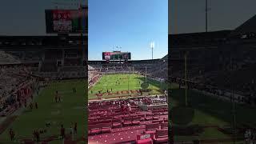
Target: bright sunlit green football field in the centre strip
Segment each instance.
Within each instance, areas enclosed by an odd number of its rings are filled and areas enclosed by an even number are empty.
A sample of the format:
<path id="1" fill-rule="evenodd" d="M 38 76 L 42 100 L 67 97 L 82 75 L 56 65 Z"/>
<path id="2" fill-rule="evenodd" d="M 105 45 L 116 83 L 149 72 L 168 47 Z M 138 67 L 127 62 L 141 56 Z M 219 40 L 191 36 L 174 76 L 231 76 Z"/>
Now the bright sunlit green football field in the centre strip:
<path id="1" fill-rule="evenodd" d="M 141 89 L 141 84 L 145 82 L 145 78 L 139 74 L 107 74 L 103 75 L 102 78 L 88 91 L 88 98 L 94 99 L 98 98 L 97 95 L 99 90 L 101 93 L 106 93 L 102 95 L 102 98 L 117 98 L 118 96 L 127 96 L 128 94 L 119 93 L 107 95 L 107 90 L 111 90 L 111 93 L 121 92 L 122 90 L 139 90 Z M 156 80 L 147 78 L 147 83 L 150 84 L 150 92 L 144 94 L 160 94 L 161 89 L 166 89 L 166 84 L 163 82 L 158 82 Z M 144 95 L 143 94 L 143 95 Z M 136 94 L 131 94 L 135 96 Z"/>

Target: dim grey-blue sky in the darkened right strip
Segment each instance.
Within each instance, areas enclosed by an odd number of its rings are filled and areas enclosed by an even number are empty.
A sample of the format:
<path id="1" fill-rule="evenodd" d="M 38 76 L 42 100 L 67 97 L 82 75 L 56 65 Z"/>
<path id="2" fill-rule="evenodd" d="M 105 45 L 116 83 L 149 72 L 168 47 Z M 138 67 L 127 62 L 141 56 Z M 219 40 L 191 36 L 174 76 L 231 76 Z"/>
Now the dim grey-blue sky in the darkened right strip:
<path id="1" fill-rule="evenodd" d="M 169 34 L 205 31 L 206 0 L 170 0 Z M 208 0 L 208 29 L 234 30 L 256 14 L 255 0 Z"/>

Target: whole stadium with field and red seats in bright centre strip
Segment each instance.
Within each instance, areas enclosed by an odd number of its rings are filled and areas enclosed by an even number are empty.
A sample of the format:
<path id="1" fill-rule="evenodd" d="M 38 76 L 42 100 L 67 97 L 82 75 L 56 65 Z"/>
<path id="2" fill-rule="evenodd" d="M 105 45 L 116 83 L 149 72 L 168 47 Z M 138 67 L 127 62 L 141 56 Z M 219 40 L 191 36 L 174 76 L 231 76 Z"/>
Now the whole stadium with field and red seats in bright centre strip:
<path id="1" fill-rule="evenodd" d="M 88 61 L 88 142 L 167 143 L 167 65 L 121 51 Z"/>

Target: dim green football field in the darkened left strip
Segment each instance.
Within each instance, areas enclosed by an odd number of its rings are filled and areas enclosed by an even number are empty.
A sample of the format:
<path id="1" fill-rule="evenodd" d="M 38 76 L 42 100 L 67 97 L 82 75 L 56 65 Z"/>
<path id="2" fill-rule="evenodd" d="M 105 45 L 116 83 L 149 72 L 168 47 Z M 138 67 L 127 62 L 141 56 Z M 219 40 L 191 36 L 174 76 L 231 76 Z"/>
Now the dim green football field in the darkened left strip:
<path id="1" fill-rule="evenodd" d="M 74 94 L 72 88 L 77 88 Z M 62 96 L 63 102 L 54 102 L 55 91 Z M 86 88 L 84 80 L 65 80 L 61 82 L 51 82 L 50 86 L 42 89 L 34 102 L 38 102 L 38 110 L 27 108 L 18 115 L 18 118 L 9 126 L 0 136 L 0 143 L 11 143 L 9 137 L 10 127 L 16 134 L 16 139 L 33 138 L 35 129 L 46 129 L 46 134 L 41 137 L 49 137 L 60 134 L 60 126 L 64 125 L 66 133 L 74 122 L 78 122 L 78 134 L 75 139 L 82 138 L 86 131 Z M 46 122 L 51 122 L 51 126 L 46 128 Z M 50 143 L 62 143 L 61 140 L 55 140 Z"/>

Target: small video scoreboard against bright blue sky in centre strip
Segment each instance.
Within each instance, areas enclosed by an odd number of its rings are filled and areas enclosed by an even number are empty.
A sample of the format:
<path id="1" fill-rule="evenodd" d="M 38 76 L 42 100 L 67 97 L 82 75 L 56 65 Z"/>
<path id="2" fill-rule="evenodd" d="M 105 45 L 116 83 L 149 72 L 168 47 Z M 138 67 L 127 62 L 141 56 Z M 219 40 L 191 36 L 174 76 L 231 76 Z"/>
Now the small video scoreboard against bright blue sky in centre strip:
<path id="1" fill-rule="evenodd" d="M 130 53 L 128 52 L 103 52 L 102 60 L 127 60 L 130 59 Z"/>

